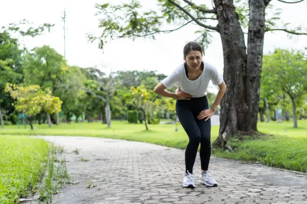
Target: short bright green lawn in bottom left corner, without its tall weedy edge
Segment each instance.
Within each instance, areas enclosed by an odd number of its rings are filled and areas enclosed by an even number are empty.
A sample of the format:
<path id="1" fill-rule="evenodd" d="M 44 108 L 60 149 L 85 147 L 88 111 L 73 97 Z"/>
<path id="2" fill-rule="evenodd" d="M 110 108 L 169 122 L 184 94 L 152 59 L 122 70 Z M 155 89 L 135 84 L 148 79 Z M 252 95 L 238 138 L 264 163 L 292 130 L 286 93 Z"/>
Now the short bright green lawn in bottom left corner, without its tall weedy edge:
<path id="1" fill-rule="evenodd" d="M 0 203 L 19 203 L 35 189 L 47 158 L 43 139 L 0 135 Z"/>

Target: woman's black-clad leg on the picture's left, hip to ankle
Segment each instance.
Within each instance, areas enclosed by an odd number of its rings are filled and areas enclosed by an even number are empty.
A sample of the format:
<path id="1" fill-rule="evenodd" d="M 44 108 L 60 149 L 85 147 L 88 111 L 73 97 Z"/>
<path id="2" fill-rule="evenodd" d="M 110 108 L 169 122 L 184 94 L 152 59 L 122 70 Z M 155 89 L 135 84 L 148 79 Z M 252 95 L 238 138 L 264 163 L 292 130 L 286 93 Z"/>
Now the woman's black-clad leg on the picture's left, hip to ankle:
<path id="1" fill-rule="evenodd" d="M 186 147 L 185 161 L 186 172 L 193 173 L 197 150 L 201 141 L 201 131 L 196 123 L 195 117 L 189 108 L 189 101 L 177 101 L 176 112 L 178 118 L 189 136 L 189 143 Z"/>

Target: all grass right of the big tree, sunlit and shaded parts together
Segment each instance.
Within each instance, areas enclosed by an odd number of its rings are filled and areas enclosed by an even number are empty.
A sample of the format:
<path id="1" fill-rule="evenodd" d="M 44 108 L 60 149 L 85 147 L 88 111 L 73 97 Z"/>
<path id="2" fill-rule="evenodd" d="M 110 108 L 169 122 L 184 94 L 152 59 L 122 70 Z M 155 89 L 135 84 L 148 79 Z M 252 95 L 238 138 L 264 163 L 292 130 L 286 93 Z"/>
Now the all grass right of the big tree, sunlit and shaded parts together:
<path id="1" fill-rule="evenodd" d="M 293 121 L 277 123 L 258 122 L 258 130 L 273 136 L 261 136 L 250 140 L 231 138 L 228 144 L 234 152 L 214 151 L 215 156 L 239 159 L 262 164 L 307 172 L 307 120 L 298 120 L 298 128 Z"/>

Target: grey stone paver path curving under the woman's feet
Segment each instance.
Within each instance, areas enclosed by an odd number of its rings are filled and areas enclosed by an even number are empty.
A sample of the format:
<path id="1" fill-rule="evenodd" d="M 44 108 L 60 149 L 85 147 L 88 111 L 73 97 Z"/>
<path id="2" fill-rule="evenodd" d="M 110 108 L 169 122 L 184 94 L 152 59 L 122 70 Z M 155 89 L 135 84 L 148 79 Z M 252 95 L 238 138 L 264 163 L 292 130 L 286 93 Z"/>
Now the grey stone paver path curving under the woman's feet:
<path id="1" fill-rule="evenodd" d="M 198 183 L 198 154 L 196 188 L 183 188 L 182 149 L 106 138 L 43 138 L 64 146 L 68 169 L 79 182 L 60 189 L 52 203 L 307 203 L 305 174 L 212 157 L 209 172 L 219 186 L 206 187 Z M 97 186 L 86 188 L 89 181 Z"/>

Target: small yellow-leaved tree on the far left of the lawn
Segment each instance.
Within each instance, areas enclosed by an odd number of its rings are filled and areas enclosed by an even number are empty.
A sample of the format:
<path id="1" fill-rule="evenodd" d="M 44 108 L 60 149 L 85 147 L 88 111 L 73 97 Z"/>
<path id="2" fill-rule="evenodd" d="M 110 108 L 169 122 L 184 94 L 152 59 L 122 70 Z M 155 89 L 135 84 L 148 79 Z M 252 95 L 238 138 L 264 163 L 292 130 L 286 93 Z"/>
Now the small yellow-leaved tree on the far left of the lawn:
<path id="1" fill-rule="evenodd" d="M 33 129 L 33 116 L 45 110 L 53 114 L 61 111 L 62 101 L 59 97 L 52 96 L 49 89 L 42 90 L 39 85 L 19 86 L 7 83 L 6 89 L 11 97 L 16 100 L 15 108 L 27 115 L 27 120 Z"/>

